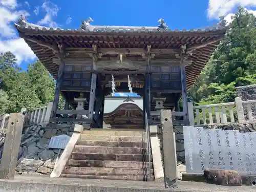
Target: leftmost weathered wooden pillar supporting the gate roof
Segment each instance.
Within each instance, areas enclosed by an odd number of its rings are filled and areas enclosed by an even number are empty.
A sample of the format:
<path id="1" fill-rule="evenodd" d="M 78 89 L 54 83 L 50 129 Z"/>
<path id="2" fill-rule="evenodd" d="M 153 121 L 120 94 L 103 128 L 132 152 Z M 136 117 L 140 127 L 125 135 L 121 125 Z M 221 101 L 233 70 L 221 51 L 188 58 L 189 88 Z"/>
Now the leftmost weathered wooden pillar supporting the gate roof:
<path id="1" fill-rule="evenodd" d="M 61 57 L 61 62 L 59 64 L 58 77 L 56 80 L 55 95 L 54 95 L 53 104 L 52 104 L 51 118 L 56 117 L 56 111 L 58 109 L 58 104 L 59 104 L 60 86 L 62 84 L 63 73 L 65 71 L 65 62 L 64 62 L 63 53 L 61 53 L 60 57 Z"/>

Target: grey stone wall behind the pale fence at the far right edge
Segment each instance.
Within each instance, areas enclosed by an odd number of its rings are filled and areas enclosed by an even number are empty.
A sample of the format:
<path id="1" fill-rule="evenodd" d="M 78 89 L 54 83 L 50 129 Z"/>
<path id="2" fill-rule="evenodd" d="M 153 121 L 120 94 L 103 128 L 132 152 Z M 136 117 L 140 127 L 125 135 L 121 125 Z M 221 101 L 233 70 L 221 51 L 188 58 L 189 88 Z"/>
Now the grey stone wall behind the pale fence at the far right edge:
<path id="1" fill-rule="evenodd" d="M 236 89 L 239 97 L 241 97 L 243 101 L 256 99 L 256 84 L 251 84 L 250 86 L 237 87 Z M 243 108 L 244 108 L 245 119 L 249 119 L 245 104 L 243 104 Z M 256 118 L 256 109 L 254 105 L 251 106 L 251 110 L 252 110 L 253 118 Z"/>

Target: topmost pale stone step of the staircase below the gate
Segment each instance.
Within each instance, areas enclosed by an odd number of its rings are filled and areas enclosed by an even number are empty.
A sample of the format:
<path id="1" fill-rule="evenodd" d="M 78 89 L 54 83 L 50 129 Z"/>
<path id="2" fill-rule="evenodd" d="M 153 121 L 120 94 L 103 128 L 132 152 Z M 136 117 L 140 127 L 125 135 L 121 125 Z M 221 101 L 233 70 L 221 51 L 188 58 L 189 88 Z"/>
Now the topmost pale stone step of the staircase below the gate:
<path id="1" fill-rule="evenodd" d="M 144 130 L 109 130 L 109 129 L 91 129 L 82 132 L 84 135 L 107 135 L 107 136 L 140 136 L 146 137 Z"/>

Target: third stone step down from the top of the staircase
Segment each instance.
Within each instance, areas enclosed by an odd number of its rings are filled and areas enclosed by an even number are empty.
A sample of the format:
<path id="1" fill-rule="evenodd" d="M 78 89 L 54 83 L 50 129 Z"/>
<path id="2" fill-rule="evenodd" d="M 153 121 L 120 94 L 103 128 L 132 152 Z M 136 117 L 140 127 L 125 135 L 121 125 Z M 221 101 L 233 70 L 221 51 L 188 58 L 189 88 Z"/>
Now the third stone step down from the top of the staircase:
<path id="1" fill-rule="evenodd" d="M 87 146 L 112 146 L 112 147 L 134 147 L 134 148 L 143 148 L 147 146 L 145 142 L 88 141 L 88 140 L 77 140 L 76 144 L 87 145 Z"/>

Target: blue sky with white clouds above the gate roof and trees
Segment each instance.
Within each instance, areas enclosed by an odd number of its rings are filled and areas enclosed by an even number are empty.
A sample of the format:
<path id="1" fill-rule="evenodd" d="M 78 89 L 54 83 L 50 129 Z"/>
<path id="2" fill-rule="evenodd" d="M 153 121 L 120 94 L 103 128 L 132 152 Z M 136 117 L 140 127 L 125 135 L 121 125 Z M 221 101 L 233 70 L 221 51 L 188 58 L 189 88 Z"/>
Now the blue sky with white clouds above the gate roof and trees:
<path id="1" fill-rule="evenodd" d="M 169 29 L 182 30 L 211 26 L 219 16 L 230 22 L 239 5 L 256 15 L 256 0 L 0 0 L 0 53 L 11 51 L 23 69 L 36 59 L 13 28 L 20 14 L 30 23 L 65 29 L 77 29 L 81 20 L 92 17 L 92 25 L 119 26 L 158 26 L 163 18 Z"/>

